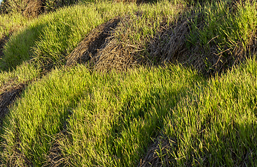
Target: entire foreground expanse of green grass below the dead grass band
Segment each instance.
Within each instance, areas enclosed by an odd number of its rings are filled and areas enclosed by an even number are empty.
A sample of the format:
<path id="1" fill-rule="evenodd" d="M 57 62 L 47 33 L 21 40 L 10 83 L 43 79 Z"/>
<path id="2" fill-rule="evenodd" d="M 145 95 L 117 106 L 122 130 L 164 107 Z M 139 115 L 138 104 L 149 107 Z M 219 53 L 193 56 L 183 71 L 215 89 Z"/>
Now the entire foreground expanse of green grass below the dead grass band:
<path id="1" fill-rule="evenodd" d="M 42 166 L 57 140 L 73 166 L 136 166 L 151 138 L 163 134 L 172 166 L 254 165 L 256 67 L 249 60 L 211 79 L 181 65 L 53 70 L 10 109 L 2 161 Z M 8 161 L 15 152 L 24 155 Z"/>

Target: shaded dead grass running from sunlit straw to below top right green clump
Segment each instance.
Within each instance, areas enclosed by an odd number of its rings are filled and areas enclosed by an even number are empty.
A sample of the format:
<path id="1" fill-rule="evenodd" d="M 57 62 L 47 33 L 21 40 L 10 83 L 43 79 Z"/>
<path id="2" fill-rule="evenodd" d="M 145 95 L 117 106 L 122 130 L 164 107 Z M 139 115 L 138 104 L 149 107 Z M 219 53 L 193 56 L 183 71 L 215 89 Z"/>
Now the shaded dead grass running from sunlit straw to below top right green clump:
<path id="1" fill-rule="evenodd" d="M 226 58 L 219 54 L 217 46 L 206 50 L 201 45 L 188 47 L 190 34 L 190 19 L 181 18 L 175 25 L 163 27 L 149 43 L 147 52 L 151 60 L 157 63 L 181 63 L 192 66 L 199 72 L 208 73 L 210 70 L 219 72 L 224 69 Z M 203 25 L 199 22 L 199 29 Z"/>

